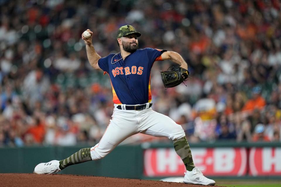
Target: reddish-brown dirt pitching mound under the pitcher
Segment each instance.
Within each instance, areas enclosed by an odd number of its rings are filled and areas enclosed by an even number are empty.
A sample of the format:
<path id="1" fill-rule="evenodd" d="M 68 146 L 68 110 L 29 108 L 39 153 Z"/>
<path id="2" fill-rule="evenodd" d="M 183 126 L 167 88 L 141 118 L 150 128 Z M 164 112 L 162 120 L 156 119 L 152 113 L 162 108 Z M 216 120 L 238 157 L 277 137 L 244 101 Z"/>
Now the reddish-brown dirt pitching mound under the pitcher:
<path id="1" fill-rule="evenodd" d="M 38 174 L 17 174 L 7 173 L 0 174 L 0 186 L 110 186 L 110 187 L 201 187 L 201 185 L 191 185 L 175 182 L 162 182 L 162 181 L 150 181 L 140 179 L 119 179 L 110 177 L 97 177 L 97 176 L 81 176 L 81 175 L 64 175 L 64 174 L 51 174 L 51 175 L 38 175 Z"/>

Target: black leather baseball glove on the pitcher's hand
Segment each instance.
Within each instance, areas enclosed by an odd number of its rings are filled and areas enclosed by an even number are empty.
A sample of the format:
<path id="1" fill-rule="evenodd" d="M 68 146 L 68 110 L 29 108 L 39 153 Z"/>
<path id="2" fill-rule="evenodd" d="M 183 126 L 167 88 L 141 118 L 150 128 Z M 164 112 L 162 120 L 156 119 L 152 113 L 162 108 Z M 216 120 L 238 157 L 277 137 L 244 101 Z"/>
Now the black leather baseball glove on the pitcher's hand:
<path id="1" fill-rule="evenodd" d="M 169 70 L 169 68 L 167 71 L 160 71 L 162 82 L 166 88 L 177 86 L 189 77 L 189 71 L 182 67 L 178 69 L 172 67 L 172 70 Z"/>

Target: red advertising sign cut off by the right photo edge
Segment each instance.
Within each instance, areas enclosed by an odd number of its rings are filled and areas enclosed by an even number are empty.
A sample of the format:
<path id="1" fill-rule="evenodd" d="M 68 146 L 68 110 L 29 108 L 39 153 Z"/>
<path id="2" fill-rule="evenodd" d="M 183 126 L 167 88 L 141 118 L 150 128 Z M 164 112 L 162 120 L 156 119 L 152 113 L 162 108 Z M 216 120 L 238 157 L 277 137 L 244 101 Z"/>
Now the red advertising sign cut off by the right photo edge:
<path id="1" fill-rule="evenodd" d="M 251 148 L 249 169 L 252 176 L 281 175 L 281 148 Z"/>

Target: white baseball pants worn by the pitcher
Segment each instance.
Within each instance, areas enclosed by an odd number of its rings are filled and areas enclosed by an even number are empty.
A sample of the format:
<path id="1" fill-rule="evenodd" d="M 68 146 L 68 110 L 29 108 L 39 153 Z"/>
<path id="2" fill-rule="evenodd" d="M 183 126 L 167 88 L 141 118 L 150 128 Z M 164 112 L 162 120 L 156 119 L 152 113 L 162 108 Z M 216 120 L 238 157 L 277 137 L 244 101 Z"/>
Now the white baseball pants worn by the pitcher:
<path id="1" fill-rule="evenodd" d="M 120 110 L 114 104 L 112 119 L 101 140 L 91 148 L 92 160 L 98 160 L 110 153 L 119 143 L 137 133 L 177 140 L 185 136 L 181 125 L 171 118 L 155 112 L 152 108 L 144 110 Z M 124 107 L 122 106 L 124 109 Z"/>

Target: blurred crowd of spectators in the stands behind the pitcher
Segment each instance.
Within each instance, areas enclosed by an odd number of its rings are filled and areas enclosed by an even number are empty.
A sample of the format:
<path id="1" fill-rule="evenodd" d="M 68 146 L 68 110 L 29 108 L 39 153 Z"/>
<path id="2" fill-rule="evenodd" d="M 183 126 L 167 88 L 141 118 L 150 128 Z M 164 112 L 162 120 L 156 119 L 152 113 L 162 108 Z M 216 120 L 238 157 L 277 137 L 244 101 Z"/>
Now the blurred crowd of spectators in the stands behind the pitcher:
<path id="1" fill-rule="evenodd" d="M 278 0 L 0 0 L 0 147 L 97 143 L 113 112 L 100 56 L 119 52 L 117 29 L 133 25 L 139 47 L 178 52 L 191 77 L 165 89 L 154 63 L 153 110 L 189 142 L 280 142 L 281 10 Z M 141 103 L 142 104 L 142 103 Z M 137 134 L 125 143 L 168 141 Z"/>

